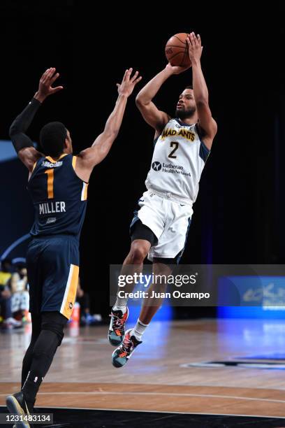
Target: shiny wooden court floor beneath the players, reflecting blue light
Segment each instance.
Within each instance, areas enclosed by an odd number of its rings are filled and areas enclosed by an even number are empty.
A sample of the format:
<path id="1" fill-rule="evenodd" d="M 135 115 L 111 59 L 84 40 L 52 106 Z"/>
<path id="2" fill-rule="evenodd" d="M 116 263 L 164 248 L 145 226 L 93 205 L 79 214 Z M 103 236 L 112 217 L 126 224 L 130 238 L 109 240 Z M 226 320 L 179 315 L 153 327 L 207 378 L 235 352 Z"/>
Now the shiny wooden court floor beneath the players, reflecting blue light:
<path id="1" fill-rule="evenodd" d="M 187 366 L 249 356 L 262 362 L 261 355 L 281 364 L 285 320 L 153 322 L 121 369 L 111 364 L 107 330 L 66 329 L 36 406 L 285 418 L 285 358 L 284 369 Z M 29 327 L 0 334 L 0 406 L 19 390 L 29 335 Z"/>

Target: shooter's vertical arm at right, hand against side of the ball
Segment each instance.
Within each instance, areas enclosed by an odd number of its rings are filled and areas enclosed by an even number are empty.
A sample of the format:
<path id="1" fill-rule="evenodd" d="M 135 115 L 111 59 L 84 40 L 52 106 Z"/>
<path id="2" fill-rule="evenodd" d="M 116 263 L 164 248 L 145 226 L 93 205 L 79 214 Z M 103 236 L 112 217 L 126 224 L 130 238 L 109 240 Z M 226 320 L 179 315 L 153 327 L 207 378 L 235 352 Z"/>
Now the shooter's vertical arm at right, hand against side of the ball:
<path id="1" fill-rule="evenodd" d="M 202 131 L 203 141 L 210 150 L 214 136 L 217 134 L 217 123 L 214 121 L 209 107 L 209 94 L 200 63 L 203 46 L 199 34 L 196 36 L 193 32 L 187 37 L 187 43 L 192 63 L 193 93 L 197 106 L 198 126 Z"/>

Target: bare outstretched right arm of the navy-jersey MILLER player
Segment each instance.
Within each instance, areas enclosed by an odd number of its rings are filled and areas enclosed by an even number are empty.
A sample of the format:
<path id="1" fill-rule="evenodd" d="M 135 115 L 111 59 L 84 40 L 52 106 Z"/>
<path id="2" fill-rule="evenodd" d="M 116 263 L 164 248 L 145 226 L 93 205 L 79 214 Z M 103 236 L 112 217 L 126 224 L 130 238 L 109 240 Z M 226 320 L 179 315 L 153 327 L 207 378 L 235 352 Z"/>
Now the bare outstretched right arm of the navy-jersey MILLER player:
<path id="1" fill-rule="evenodd" d="M 126 101 L 141 79 L 141 77 L 138 77 L 138 71 L 131 77 L 132 71 L 133 69 L 126 70 L 122 83 L 117 83 L 119 95 L 115 108 L 105 124 L 105 129 L 96 138 L 92 147 L 82 150 L 78 155 L 75 171 L 82 180 L 88 181 L 92 169 L 108 155 L 112 143 L 119 133 L 126 109 Z"/>

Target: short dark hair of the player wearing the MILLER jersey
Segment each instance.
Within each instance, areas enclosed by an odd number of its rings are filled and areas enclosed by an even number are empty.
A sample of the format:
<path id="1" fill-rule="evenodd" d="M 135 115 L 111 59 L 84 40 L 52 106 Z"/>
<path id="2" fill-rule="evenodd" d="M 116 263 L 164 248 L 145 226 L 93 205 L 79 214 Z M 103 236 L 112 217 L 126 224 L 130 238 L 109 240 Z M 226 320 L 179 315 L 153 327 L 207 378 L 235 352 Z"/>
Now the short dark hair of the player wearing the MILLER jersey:
<path id="1" fill-rule="evenodd" d="M 57 157 L 64 151 L 67 129 L 61 122 L 50 122 L 41 129 L 40 143 L 45 155 Z"/>

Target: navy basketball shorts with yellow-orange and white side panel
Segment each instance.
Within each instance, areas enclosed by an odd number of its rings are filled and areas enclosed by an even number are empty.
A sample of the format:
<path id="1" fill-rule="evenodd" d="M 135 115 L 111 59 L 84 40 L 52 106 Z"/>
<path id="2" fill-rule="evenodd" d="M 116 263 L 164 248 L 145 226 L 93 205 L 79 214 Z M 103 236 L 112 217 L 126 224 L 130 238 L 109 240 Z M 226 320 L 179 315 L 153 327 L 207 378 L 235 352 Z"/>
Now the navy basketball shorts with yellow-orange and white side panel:
<path id="1" fill-rule="evenodd" d="M 71 317 L 78 286 L 79 243 L 74 236 L 34 238 L 27 251 L 29 311 Z"/>

